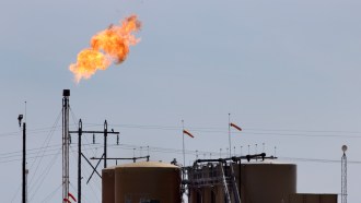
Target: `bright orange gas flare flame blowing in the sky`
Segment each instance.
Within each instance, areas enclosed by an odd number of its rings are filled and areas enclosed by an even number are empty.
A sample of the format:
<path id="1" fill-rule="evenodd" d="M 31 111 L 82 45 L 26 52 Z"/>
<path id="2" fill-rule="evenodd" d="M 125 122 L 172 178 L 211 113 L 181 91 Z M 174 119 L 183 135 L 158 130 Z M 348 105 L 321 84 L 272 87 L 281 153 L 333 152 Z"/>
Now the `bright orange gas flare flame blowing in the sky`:
<path id="1" fill-rule="evenodd" d="M 94 35 L 91 47 L 78 53 L 77 63 L 69 65 L 75 82 L 90 79 L 97 70 L 106 70 L 112 63 L 119 64 L 127 59 L 129 46 L 140 41 L 132 34 L 138 32 L 141 23 L 137 15 L 130 15 L 119 25 L 110 25 L 107 29 Z"/>

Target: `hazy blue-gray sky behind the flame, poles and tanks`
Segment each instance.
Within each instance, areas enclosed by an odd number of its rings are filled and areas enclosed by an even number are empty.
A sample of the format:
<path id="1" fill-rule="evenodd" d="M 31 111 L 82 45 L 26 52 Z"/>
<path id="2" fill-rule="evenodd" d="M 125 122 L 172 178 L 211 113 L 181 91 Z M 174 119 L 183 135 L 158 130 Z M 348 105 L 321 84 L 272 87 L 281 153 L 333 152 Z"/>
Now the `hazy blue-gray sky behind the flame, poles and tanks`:
<path id="1" fill-rule="evenodd" d="M 132 156 L 133 147 L 136 155 L 144 155 L 140 146 L 149 145 L 153 160 L 182 160 L 182 153 L 172 150 L 182 150 L 184 119 L 196 136 L 186 138 L 186 148 L 218 157 L 229 146 L 231 112 L 244 129 L 232 133 L 237 154 L 241 146 L 243 153 L 247 145 L 255 152 L 258 144 L 260 152 L 265 143 L 268 154 L 277 146 L 277 156 L 293 158 L 280 162 L 298 164 L 298 192 L 339 193 L 340 163 L 294 158 L 340 159 L 347 144 L 349 160 L 360 160 L 360 10 L 357 0 L 1 1 L 3 202 L 21 201 L 16 118 L 24 114 L 25 100 L 28 156 L 46 155 L 40 164 L 28 160 L 30 202 L 60 201 L 61 130 L 50 130 L 61 126 L 57 117 L 63 88 L 71 89 L 71 123 L 82 118 L 84 128 L 102 130 L 107 119 L 121 132 L 124 145 L 112 146 L 109 156 Z M 143 27 L 128 59 L 74 84 L 68 65 L 77 53 L 89 47 L 92 35 L 130 14 Z M 45 154 L 36 150 L 42 146 L 49 146 Z M 89 147 L 89 157 L 101 155 L 101 144 Z M 74 194 L 75 157 L 71 155 Z M 187 163 L 195 157 L 187 154 Z M 91 168 L 83 168 L 85 183 Z M 348 166 L 349 202 L 361 201 L 360 169 L 360 164 Z M 83 191 L 84 201 L 101 202 L 97 177 Z"/>

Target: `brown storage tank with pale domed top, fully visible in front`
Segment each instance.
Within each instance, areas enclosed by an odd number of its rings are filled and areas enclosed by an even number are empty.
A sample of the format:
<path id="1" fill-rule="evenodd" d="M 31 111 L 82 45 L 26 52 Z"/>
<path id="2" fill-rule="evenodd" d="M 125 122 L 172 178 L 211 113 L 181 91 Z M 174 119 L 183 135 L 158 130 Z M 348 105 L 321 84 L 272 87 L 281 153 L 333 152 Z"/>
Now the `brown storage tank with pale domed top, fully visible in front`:
<path id="1" fill-rule="evenodd" d="M 115 168 L 116 203 L 180 203 L 180 169 L 156 162 Z"/>

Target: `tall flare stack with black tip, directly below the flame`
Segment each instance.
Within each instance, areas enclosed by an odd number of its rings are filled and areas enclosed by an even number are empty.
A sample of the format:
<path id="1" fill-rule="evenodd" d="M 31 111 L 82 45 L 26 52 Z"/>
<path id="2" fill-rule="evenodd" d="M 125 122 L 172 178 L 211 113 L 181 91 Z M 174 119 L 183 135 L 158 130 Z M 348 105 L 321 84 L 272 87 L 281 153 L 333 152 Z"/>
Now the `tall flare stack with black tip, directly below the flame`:
<path id="1" fill-rule="evenodd" d="M 69 195 L 69 96 L 70 89 L 62 92 L 62 202 Z"/>

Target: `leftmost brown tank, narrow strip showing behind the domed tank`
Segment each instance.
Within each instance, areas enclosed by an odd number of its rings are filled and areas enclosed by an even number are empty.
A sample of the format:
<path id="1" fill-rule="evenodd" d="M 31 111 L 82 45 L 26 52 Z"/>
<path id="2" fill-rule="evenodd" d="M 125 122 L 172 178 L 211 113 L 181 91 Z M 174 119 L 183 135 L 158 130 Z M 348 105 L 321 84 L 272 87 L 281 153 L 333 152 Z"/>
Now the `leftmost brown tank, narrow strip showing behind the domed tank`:
<path id="1" fill-rule="evenodd" d="M 115 169 L 102 170 L 102 203 L 115 203 Z"/>

